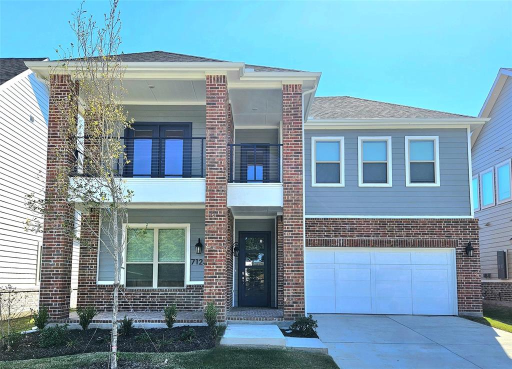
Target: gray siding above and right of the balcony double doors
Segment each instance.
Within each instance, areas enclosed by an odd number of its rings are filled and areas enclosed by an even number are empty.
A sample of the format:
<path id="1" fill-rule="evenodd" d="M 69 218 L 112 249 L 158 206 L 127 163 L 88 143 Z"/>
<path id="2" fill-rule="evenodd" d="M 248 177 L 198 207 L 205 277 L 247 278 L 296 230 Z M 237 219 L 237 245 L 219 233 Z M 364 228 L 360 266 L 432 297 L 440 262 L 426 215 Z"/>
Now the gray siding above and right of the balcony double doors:
<path id="1" fill-rule="evenodd" d="M 135 122 L 192 123 L 192 136 L 206 136 L 205 105 L 126 105 Z"/>

